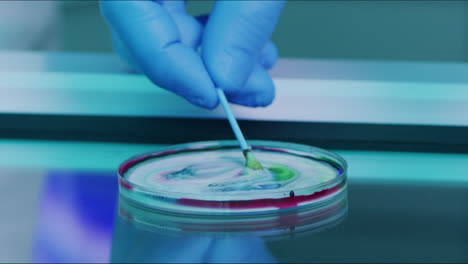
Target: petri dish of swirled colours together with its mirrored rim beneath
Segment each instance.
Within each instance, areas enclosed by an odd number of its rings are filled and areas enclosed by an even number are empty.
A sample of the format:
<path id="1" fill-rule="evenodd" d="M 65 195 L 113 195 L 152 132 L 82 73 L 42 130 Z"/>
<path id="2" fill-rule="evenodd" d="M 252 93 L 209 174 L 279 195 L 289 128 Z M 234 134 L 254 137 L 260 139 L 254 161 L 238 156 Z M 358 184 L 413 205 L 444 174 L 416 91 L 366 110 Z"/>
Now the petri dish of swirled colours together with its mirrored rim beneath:
<path id="1" fill-rule="evenodd" d="M 291 234 L 343 219 L 344 159 L 302 144 L 249 143 L 264 170 L 245 168 L 237 141 L 173 145 L 130 158 L 118 170 L 120 215 L 141 228 L 214 235 Z"/>

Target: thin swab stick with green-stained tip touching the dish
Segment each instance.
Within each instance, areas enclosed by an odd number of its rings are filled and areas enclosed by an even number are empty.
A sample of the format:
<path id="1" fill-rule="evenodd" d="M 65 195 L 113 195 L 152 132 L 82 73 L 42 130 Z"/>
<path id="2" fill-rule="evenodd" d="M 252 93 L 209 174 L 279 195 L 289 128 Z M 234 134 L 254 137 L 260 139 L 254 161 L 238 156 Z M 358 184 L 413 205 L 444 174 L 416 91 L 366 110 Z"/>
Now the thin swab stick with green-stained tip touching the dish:
<path id="1" fill-rule="evenodd" d="M 226 99 L 226 96 L 224 95 L 223 90 L 221 90 L 220 88 L 216 88 L 216 92 L 218 93 L 219 101 L 224 109 L 224 112 L 226 113 L 229 124 L 231 124 L 232 131 L 234 132 L 234 135 L 236 136 L 237 141 L 239 142 L 239 145 L 242 149 L 242 153 L 244 154 L 245 166 L 252 170 L 263 170 L 263 166 L 254 157 L 249 145 L 247 145 L 247 142 L 244 138 L 244 134 L 242 134 L 239 124 L 237 124 L 237 120 L 232 114 L 231 108 L 229 107 L 229 103 Z"/>

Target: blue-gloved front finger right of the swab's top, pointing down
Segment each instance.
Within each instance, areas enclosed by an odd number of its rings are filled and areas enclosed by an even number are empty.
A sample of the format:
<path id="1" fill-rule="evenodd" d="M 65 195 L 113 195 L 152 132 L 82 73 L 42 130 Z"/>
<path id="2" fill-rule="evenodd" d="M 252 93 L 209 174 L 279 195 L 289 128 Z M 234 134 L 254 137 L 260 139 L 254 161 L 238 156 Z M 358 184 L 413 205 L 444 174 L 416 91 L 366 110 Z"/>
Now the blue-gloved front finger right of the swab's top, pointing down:
<path id="1" fill-rule="evenodd" d="M 202 43 L 202 57 L 216 86 L 236 93 L 245 85 L 270 39 L 284 3 L 216 2 Z"/>

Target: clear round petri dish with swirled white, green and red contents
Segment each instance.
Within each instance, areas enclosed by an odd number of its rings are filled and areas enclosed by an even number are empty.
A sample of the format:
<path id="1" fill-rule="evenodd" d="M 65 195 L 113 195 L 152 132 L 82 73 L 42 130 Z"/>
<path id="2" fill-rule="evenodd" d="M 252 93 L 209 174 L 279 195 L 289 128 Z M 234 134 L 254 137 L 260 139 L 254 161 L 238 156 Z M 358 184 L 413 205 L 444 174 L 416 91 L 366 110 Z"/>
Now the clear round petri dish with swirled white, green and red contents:
<path id="1" fill-rule="evenodd" d="M 346 193 L 347 164 L 307 145 L 249 141 L 265 167 L 249 171 L 236 141 L 206 141 L 161 148 L 119 168 L 120 195 L 167 213 L 261 215 L 327 207 Z"/>

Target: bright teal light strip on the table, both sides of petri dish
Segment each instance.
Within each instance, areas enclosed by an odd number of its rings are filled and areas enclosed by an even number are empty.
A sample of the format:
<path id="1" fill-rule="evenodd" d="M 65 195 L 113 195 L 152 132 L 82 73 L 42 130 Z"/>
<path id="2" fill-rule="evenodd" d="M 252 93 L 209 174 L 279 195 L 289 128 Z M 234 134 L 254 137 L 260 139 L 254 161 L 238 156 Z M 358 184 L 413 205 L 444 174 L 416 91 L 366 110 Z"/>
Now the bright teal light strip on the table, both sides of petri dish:
<path id="1" fill-rule="evenodd" d="M 131 156 L 162 145 L 0 140 L 0 166 L 113 170 Z M 468 185 L 468 154 L 336 151 L 350 181 Z"/>

